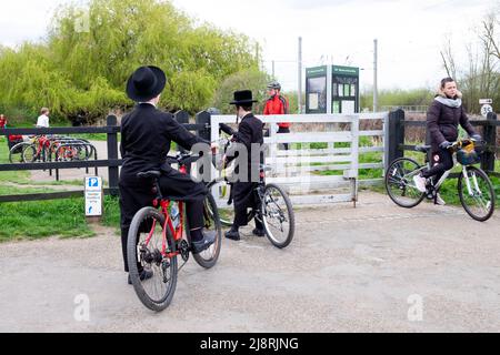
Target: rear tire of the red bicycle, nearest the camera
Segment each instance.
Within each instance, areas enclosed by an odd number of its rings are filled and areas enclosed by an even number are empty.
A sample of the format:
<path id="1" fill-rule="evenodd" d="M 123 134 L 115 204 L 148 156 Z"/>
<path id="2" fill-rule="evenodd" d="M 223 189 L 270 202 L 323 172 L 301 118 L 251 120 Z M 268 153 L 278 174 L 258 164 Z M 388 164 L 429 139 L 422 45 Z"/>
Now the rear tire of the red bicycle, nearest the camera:
<path id="1" fill-rule="evenodd" d="M 147 221 L 149 217 L 153 219 L 157 222 L 157 226 L 159 224 L 161 230 L 163 230 L 164 216 L 156 209 L 144 207 L 144 209 L 140 210 L 133 216 L 132 223 L 130 224 L 128 243 L 127 243 L 129 274 L 130 274 L 130 278 L 132 281 L 136 294 L 138 295 L 138 297 L 142 302 L 142 304 L 147 308 L 149 308 L 153 312 L 161 312 L 161 311 L 164 311 L 170 305 L 170 303 L 172 302 L 172 298 L 173 298 L 173 294 L 176 293 L 177 277 L 178 277 L 178 263 L 177 263 L 177 256 L 173 256 L 170 258 L 170 266 L 168 268 L 171 272 L 171 276 L 169 278 L 169 284 L 166 287 L 166 291 L 162 292 L 162 295 L 160 298 L 158 298 L 158 300 L 151 298 L 151 296 L 148 294 L 148 291 L 144 290 L 144 285 L 142 284 L 142 281 L 140 280 L 139 268 L 138 268 L 138 243 L 140 242 L 141 226 L 142 226 L 142 223 L 144 221 Z M 151 232 L 151 230 L 149 232 Z M 149 232 L 148 232 L 148 234 L 149 234 Z M 138 241 L 138 239 L 139 239 L 139 241 Z M 171 253 L 174 253 L 176 252 L 176 243 L 173 241 L 173 236 L 169 229 L 167 229 L 167 243 L 168 243 L 169 251 Z M 156 272 L 156 270 L 153 270 L 153 273 L 154 272 Z M 164 273 L 164 271 L 163 271 L 163 273 Z M 154 274 L 153 277 L 154 276 L 161 277 L 161 271 L 158 272 L 158 275 Z M 151 281 L 153 281 L 153 280 L 151 278 Z M 166 283 L 162 280 L 160 280 L 160 281 L 162 283 Z M 161 283 L 160 283 L 160 286 L 161 286 Z"/>

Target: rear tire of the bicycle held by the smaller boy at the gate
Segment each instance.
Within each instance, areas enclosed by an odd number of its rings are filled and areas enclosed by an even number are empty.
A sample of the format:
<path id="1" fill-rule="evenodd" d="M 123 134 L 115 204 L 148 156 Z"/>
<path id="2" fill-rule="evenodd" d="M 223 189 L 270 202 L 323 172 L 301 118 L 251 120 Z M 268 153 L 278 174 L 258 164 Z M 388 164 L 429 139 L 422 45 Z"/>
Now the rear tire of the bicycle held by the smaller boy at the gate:
<path id="1" fill-rule="evenodd" d="M 268 213 L 270 213 L 269 211 L 269 206 L 267 204 L 267 199 L 268 199 L 268 193 L 271 190 L 276 190 L 281 197 L 283 199 L 284 202 L 284 206 L 287 207 L 287 214 L 288 214 L 288 223 L 289 223 L 289 229 L 288 229 L 288 234 L 284 239 L 282 240 L 278 240 L 274 234 L 272 233 L 271 229 L 270 229 L 270 223 L 268 220 Z M 279 210 L 281 210 L 278 206 Z M 281 211 L 280 211 L 281 212 Z M 280 213 L 281 214 L 281 213 Z M 261 216 L 262 216 L 262 224 L 264 226 L 264 231 L 266 231 L 266 235 L 268 237 L 268 240 L 271 242 L 272 245 L 274 245 L 278 248 L 284 248 L 287 246 L 290 245 L 290 243 L 293 240 L 294 236 L 294 232 L 296 232 L 296 216 L 293 213 L 293 205 L 290 201 L 290 197 L 288 196 L 288 194 L 283 191 L 283 189 L 281 189 L 280 186 L 276 185 L 276 184 L 268 184 L 266 185 L 264 189 L 264 197 L 261 204 Z M 282 219 L 284 216 L 280 215 L 280 219 Z"/>

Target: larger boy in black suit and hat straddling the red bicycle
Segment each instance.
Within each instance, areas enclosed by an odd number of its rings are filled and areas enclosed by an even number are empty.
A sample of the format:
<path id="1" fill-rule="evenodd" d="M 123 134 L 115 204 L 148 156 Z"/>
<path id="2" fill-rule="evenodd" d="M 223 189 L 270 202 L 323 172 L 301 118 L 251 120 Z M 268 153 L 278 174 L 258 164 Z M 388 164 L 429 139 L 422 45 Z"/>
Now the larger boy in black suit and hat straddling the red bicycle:
<path id="1" fill-rule="evenodd" d="M 197 143 L 209 144 L 179 124 L 172 114 L 157 109 L 161 92 L 167 83 L 164 72 L 157 67 L 141 67 L 128 80 L 127 94 L 137 102 L 132 112 L 121 122 L 121 155 L 123 165 L 120 173 L 121 242 L 124 270 L 128 273 L 127 240 L 130 223 L 142 207 L 150 206 L 154 193 L 152 185 L 144 183 L 137 174 L 147 171 L 162 173 L 159 184 L 163 195 L 178 196 L 187 203 L 193 254 L 206 251 L 216 241 L 214 232 L 203 230 L 203 201 L 208 193 L 206 185 L 194 182 L 167 163 L 171 141 L 191 150 Z M 139 267 L 141 280 L 152 276 Z M 129 284 L 130 284 L 129 277 Z"/>

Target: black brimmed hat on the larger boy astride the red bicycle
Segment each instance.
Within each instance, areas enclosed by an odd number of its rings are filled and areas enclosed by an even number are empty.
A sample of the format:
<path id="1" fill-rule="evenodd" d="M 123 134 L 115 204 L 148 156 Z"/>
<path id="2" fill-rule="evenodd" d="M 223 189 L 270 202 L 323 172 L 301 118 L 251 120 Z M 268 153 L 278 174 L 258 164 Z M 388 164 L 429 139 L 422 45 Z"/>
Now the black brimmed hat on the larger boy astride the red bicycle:
<path id="1" fill-rule="evenodd" d="M 167 84 L 164 72 L 158 67 L 141 67 L 127 82 L 127 95 L 136 102 L 158 97 Z"/>

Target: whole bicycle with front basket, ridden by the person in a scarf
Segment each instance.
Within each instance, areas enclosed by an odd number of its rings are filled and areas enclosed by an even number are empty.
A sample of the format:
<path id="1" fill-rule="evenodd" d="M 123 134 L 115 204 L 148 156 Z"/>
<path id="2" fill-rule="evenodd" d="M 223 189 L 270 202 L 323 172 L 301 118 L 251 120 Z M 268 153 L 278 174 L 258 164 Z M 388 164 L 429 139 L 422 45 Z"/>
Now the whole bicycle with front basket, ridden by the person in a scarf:
<path id="1" fill-rule="evenodd" d="M 458 180 L 460 203 L 472 219 L 484 222 L 493 215 L 496 194 L 488 175 L 481 169 L 472 166 L 479 163 L 479 154 L 474 151 L 476 143 L 471 139 L 458 141 L 449 149 L 453 153 L 454 164 L 461 165 L 461 174 Z M 416 151 L 426 153 L 427 156 L 430 150 L 431 146 L 429 145 L 416 148 Z M 436 183 L 430 179 L 427 192 L 422 193 L 417 189 L 413 176 L 431 168 L 428 158 L 426 163 L 427 165 L 421 166 L 409 158 L 401 158 L 392 162 L 386 174 L 386 189 L 396 204 L 412 209 L 419 205 L 426 196 L 437 203 L 439 190 L 450 175 L 451 170 L 446 172 Z"/>

